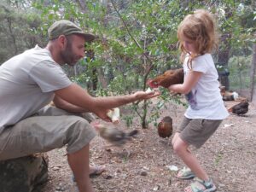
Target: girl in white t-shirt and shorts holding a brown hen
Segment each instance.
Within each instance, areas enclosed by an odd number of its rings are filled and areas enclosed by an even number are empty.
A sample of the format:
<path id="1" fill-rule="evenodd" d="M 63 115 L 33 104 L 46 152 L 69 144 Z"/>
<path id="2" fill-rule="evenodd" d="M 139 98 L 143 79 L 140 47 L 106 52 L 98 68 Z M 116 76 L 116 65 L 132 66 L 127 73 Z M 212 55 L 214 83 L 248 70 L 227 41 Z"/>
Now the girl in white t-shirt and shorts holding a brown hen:
<path id="1" fill-rule="evenodd" d="M 216 190 L 212 179 L 203 170 L 189 145 L 201 148 L 229 113 L 218 88 L 218 73 L 212 61 L 212 49 L 217 48 L 215 22 L 210 13 L 196 10 L 187 15 L 177 29 L 182 51 L 184 82 L 173 84 L 169 90 L 183 93 L 189 102 L 183 122 L 172 139 L 176 154 L 188 168 L 178 172 L 180 179 L 195 178 L 185 192 Z"/>

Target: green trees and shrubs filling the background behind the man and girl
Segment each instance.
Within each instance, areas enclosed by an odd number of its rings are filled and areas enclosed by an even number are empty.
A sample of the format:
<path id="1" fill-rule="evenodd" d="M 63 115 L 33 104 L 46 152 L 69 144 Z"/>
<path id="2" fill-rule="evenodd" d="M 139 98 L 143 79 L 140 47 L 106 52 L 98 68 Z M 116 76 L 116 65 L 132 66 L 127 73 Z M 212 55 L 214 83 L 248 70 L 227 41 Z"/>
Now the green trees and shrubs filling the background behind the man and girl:
<path id="1" fill-rule="evenodd" d="M 68 75 L 94 96 L 145 90 L 146 81 L 169 68 L 181 67 L 177 50 L 177 25 L 195 9 L 207 9 L 218 20 L 219 49 L 214 53 L 221 83 L 227 89 L 253 90 L 256 2 L 243 0 L 3 0 L 0 3 L 0 63 L 11 56 L 44 47 L 47 29 L 60 19 L 72 20 L 97 35 L 87 44 L 87 55 Z M 255 47 L 255 46 L 254 46 Z M 255 55 L 255 48 L 254 48 Z M 228 72 L 230 75 L 228 75 Z M 166 90 L 158 103 L 133 103 L 143 127 L 159 118 L 165 103 L 180 102 Z"/>

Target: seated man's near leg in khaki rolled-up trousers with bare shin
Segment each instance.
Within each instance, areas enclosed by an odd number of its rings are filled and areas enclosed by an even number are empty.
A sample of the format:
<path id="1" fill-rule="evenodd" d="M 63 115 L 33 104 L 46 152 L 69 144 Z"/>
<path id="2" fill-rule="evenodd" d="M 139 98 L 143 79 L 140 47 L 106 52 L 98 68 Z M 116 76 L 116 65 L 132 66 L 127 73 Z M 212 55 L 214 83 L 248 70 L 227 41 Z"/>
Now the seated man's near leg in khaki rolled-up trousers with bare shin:
<path id="1" fill-rule="evenodd" d="M 21 120 L 0 135 L 0 160 L 7 160 L 61 148 L 67 144 L 67 158 L 80 192 L 93 192 L 90 184 L 89 143 L 96 131 L 77 116 L 34 116 Z"/>

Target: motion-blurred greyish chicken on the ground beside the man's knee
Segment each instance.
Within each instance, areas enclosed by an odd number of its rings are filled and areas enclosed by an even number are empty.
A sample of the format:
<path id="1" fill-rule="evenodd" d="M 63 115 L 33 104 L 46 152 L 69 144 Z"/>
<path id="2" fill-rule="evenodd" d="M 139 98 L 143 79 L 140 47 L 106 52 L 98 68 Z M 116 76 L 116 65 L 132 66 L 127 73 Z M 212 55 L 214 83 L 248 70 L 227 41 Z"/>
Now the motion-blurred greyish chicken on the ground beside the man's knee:
<path id="1" fill-rule="evenodd" d="M 107 124 L 95 124 L 94 127 L 96 131 L 99 132 L 100 136 L 106 139 L 109 143 L 112 143 L 114 146 L 121 147 L 128 140 L 131 140 L 131 137 L 137 135 L 138 131 L 133 130 L 130 132 L 120 131 L 115 128 L 113 125 Z"/>

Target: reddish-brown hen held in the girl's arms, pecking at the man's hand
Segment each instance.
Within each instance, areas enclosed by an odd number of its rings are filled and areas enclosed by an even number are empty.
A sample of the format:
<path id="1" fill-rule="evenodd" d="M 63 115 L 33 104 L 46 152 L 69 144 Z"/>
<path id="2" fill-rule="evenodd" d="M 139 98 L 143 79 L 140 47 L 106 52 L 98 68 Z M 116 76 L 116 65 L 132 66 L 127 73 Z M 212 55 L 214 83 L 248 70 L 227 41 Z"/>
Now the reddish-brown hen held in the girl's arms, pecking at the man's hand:
<path id="1" fill-rule="evenodd" d="M 183 68 L 170 69 L 166 71 L 164 74 L 161 74 L 154 79 L 148 80 L 147 84 L 151 88 L 157 88 L 159 86 L 168 88 L 172 84 L 183 84 L 183 79 Z"/>

